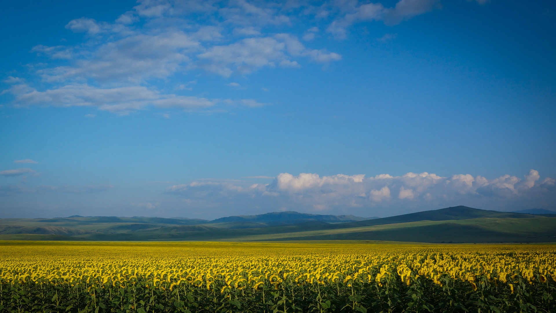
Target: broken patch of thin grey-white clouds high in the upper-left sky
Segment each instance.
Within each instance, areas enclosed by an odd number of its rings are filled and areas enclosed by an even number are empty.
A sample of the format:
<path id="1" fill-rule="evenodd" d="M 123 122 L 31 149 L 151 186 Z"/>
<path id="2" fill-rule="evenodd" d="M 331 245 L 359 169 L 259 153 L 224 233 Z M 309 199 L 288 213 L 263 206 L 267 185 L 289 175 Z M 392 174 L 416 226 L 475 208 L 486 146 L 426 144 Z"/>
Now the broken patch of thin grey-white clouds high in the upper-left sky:
<path id="1" fill-rule="evenodd" d="M 81 43 L 51 47 L 38 44 L 31 49 L 52 59 L 29 66 L 33 71 L 29 81 L 41 78 L 44 87 L 37 90 L 36 85 L 22 78 L 8 77 L 4 81 L 13 86 L 3 93 L 12 93 L 16 96 L 14 103 L 23 106 L 96 106 L 118 114 L 146 106 L 197 110 L 213 106 L 215 101 L 167 95 L 157 91 L 164 88 L 156 86 L 198 71 L 230 77 L 263 67 L 300 68 L 306 60 L 326 67 L 339 61 L 341 55 L 322 47 L 305 47 L 298 35 L 311 41 L 320 27 L 342 38 L 354 23 L 399 23 L 431 11 L 438 1 L 400 0 L 394 7 L 385 8 L 381 3 L 356 0 L 140 0 L 113 22 L 88 17 L 69 21 L 67 29 L 85 34 Z M 299 22 L 319 27 L 297 34 L 293 26 Z M 380 40 L 394 37 L 387 35 Z M 192 90 L 186 84 L 174 83 L 181 92 Z"/>

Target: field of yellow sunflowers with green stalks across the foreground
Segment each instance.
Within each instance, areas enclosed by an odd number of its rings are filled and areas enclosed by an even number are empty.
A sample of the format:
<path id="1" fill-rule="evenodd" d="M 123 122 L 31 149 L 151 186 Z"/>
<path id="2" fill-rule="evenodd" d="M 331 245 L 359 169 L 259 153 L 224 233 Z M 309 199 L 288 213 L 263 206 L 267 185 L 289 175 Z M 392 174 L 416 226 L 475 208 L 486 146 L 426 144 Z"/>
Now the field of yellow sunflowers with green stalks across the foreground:
<path id="1" fill-rule="evenodd" d="M 554 245 L 0 242 L 0 312 L 556 312 Z"/>

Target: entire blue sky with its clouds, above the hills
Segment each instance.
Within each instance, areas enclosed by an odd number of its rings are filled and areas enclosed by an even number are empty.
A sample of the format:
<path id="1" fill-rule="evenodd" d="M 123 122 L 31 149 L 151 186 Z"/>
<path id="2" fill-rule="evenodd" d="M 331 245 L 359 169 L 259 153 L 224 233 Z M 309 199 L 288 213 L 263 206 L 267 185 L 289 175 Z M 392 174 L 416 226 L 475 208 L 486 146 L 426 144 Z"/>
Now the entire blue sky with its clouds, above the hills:
<path id="1" fill-rule="evenodd" d="M 0 217 L 556 210 L 554 2 L 0 14 Z"/>

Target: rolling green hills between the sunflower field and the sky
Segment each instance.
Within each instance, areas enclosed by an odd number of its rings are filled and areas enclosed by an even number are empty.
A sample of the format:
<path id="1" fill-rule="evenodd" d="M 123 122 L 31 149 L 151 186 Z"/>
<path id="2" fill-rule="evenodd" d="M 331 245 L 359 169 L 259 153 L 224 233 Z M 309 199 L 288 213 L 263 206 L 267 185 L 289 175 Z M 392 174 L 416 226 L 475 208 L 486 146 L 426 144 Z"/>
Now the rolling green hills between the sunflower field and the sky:
<path id="1" fill-rule="evenodd" d="M 0 219 L 0 240 L 554 242 L 556 215 L 450 207 L 361 220 L 275 212 L 214 221 L 158 217 Z M 289 222 L 290 221 L 290 222 Z M 301 222 L 300 222 L 301 221 Z"/>

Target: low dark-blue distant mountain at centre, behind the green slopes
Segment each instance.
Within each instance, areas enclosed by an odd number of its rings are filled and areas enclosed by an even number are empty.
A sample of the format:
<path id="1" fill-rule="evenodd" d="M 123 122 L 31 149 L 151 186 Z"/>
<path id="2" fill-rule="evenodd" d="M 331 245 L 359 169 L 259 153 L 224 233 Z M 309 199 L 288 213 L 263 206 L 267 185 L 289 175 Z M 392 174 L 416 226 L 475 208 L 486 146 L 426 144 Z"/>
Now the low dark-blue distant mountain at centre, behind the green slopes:
<path id="1" fill-rule="evenodd" d="M 269 225 L 279 225 L 279 224 L 294 224 L 310 221 L 319 221 L 327 223 L 345 223 L 354 221 L 366 220 L 365 217 L 354 216 L 354 215 L 320 215 L 320 214 L 308 214 L 299 213 L 295 211 L 285 211 L 285 212 L 271 212 L 259 215 L 237 215 L 217 218 L 216 220 L 210 221 L 210 223 L 230 223 L 230 222 L 254 222 L 254 223 L 266 223 Z"/>

